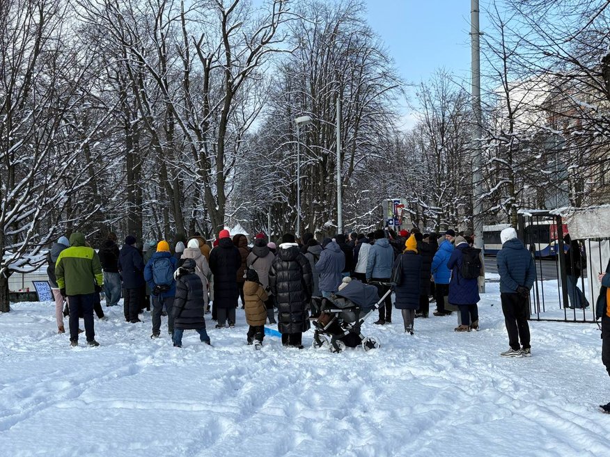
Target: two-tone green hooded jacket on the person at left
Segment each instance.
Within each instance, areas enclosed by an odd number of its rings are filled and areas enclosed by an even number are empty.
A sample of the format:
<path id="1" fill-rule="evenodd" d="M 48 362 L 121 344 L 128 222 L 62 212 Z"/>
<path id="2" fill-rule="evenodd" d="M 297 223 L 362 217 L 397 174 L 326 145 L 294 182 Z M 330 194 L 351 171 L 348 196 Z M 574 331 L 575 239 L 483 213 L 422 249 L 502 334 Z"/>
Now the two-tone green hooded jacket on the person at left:
<path id="1" fill-rule="evenodd" d="M 95 293 L 95 285 L 104 284 L 100 257 L 86 246 L 85 236 L 79 232 L 70 235 L 70 248 L 62 250 L 55 264 L 59 289 L 68 296 Z"/>

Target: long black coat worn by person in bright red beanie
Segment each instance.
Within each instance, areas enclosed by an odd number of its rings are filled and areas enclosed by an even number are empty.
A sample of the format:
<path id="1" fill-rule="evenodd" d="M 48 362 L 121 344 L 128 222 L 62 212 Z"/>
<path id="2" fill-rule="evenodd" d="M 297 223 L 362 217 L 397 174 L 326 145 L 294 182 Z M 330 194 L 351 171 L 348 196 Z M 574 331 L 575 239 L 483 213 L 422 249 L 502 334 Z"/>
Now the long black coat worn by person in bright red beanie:
<path id="1" fill-rule="evenodd" d="M 240 250 L 230 238 L 221 238 L 210 252 L 210 270 L 214 275 L 214 306 L 223 310 L 237 307 L 237 270 L 242 265 Z"/>

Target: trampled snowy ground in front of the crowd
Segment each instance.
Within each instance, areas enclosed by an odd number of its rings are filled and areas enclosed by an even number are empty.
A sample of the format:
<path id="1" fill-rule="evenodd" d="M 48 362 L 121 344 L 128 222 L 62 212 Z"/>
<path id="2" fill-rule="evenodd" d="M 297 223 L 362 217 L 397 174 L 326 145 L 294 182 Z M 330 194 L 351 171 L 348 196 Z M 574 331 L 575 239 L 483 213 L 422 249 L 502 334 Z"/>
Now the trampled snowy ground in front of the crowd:
<path id="1" fill-rule="evenodd" d="M 610 456 L 597 326 L 532 322 L 533 357 L 503 359 L 487 291 L 480 332 L 446 316 L 405 335 L 397 313 L 366 324 L 382 348 L 341 354 L 272 337 L 253 351 L 242 311 L 233 330 L 208 321 L 214 347 L 186 332 L 173 348 L 120 307 L 96 319 L 99 348 L 70 348 L 51 303 L 15 304 L 0 314 L 1 455 Z"/>

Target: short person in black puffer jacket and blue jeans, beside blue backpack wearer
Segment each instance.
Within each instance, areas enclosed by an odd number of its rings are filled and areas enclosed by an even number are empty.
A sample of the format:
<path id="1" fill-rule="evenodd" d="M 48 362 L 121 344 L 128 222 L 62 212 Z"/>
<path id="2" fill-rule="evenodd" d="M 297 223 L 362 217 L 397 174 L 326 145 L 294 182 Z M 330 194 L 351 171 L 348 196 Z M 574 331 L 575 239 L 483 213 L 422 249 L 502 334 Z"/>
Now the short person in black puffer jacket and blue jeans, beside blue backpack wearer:
<path id="1" fill-rule="evenodd" d="M 182 266 L 173 273 L 175 278 L 175 296 L 173 298 L 173 345 L 182 347 L 182 334 L 185 330 L 196 330 L 201 342 L 210 344 L 210 337 L 205 330 L 205 297 L 203 283 L 195 273 L 195 261 L 185 259 Z"/>

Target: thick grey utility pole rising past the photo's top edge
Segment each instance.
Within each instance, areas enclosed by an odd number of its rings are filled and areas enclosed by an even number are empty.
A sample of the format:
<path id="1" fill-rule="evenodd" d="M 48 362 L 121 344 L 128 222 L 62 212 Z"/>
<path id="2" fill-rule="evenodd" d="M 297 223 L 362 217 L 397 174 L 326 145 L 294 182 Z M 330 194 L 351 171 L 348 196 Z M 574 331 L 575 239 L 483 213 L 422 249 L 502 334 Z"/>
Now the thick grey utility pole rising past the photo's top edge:
<path id="1" fill-rule="evenodd" d="M 480 30 L 478 23 L 478 0 L 470 0 L 470 40 L 471 40 L 471 61 L 472 61 L 472 113 L 474 115 L 474 129 L 472 130 L 472 184 L 474 187 L 473 195 L 473 231 L 474 243 L 477 248 L 480 248 L 481 255 L 485 252 L 485 244 L 483 243 L 483 202 L 481 195 L 483 194 L 483 177 L 481 173 L 482 152 L 481 152 L 481 136 L 483 129 L 483 115 L 480 108 Z M 485 259 L 485 257 L 483 257 Z M 481 290 L 485 293 L 485 283 Z"/>

